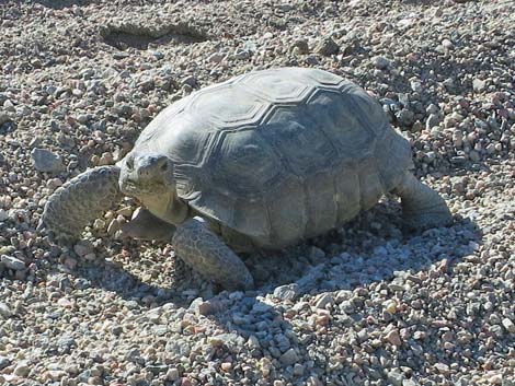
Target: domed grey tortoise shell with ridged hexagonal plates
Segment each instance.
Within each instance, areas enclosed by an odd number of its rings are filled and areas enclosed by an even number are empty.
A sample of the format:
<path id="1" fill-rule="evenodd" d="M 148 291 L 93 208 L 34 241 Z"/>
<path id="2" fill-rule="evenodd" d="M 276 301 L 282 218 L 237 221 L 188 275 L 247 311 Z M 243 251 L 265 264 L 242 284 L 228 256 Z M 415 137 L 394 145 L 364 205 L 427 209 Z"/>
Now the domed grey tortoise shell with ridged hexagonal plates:
<path id="1" fill-rule="evenodd" d="M 351 220 L 411 165 L 363 89 L 300 68 L 203 89 L 159 114 L 135 149 L 174 161 L 179 196 L 201 215 L 272 248 Z"/>

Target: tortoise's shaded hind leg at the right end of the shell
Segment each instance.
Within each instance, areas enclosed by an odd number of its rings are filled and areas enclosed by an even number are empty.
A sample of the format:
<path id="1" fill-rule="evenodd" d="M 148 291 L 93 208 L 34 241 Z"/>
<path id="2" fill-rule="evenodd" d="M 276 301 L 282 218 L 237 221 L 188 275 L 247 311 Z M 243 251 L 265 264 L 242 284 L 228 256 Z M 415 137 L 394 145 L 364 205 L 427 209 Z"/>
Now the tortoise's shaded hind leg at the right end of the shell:
<path id="1" fill-rule="evenodd" d="M 453 215 L 444 199 L 410 172 L 404 173 L 392 192 L 401 198 L 402 218 L 408 226 L 426 230 L 453 223 Z"/>

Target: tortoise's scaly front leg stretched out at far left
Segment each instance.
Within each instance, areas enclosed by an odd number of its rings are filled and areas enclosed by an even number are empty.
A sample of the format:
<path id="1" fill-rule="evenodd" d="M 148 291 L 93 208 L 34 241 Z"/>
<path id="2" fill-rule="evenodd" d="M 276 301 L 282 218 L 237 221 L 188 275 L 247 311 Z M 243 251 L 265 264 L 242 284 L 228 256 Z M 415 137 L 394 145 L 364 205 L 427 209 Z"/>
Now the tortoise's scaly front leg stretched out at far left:
<path id="1" fill-rule="evenodd" d="M 48 198 L 38 230 L 60 242 L 78 238 L 90 221 L 122 199 L 118 176 L 118 166 L 100 166 L 67 182 Z"/>

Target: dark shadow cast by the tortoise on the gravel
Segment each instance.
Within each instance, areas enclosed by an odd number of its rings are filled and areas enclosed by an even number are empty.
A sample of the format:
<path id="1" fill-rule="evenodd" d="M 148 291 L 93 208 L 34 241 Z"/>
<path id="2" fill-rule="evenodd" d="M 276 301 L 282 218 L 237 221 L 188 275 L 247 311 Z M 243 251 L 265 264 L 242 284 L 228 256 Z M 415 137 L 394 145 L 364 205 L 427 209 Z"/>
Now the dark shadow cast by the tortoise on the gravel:
<path id="1" fill-rule="evenodd" d="M 420 234 L 401 233 L 401 226 L 399 204 L 381 202 L 342 230 L 281 254 L 247 257 L 259 283 L 256 291 L 222 291 L 193 303 L 202 289 L 187 292 L 183 291 L 184 286 L 145 283 L 113 261 L 84 265 L 79 282 L 116 292 L 144 309 L 150 305 L 147 300 L 150 295 L 152 307 L 172 303 L 176 308 L 205 314 L 226 331 L 215 339 L 218 346 L 213 360 L 236 355 L 242 347 L 248 347 L 251 355 L 263 363 L 278 361 L 282 364 L 271 366 L 271 376 L 305 382 L 308 376 L 323 376 L 327 371 L 327 359 L 318 358 L 309 348 L 318 334 L 323 334 L 334 321 L 347 327 L 370 323 L 370 315 L 362 312 L 359 295 L 356 295 L 366 291 L 365 285 L 374 282 L 384 285 L 394 299 L 407 277 L 415 280 L 421 271 L 430 272 L 431 277 L 434 274 L 431 272 L 438 272 L 438 267 L 443 266 L 451 270 L 482 244 L 482 233 L 470 219 L 456 218 L 450 227 Z M 175 280 L 188 282 L 190 288 L 202 280 L 181 264 L 176 268 Z M 265 269 L 268 276 L 264 274 Z M 310 295 L 306 300 L 311 301 L 302 301 L 306 294 Z M 293 302 L 295 307 L 291 307 Z M 332 307 L 344 309 L 337 313 L 336 320 L 329 315 L 328 309 Z M 312 317 L 308 317 L 310 321 L 294 326 L 290 320 L 302 313 L 312 313 Z M 309 362 L 309 369 L 296 365 L 299 358 Z"/>

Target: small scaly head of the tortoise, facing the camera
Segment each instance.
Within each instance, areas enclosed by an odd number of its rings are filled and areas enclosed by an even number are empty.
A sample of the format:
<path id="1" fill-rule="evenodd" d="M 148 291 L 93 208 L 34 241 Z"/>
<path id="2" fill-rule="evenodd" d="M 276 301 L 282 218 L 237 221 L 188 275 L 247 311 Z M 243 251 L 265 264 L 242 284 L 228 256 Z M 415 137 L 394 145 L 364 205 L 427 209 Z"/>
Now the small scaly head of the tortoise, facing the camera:
<path id="1" fill-rule="evenodd" d="M 175 190 L 173 164 L 171 160 L 159 153 L 130 152 L 118 164 L 119 188 L 131 197 L 168 196 Z"/>

